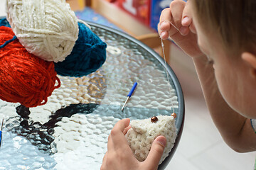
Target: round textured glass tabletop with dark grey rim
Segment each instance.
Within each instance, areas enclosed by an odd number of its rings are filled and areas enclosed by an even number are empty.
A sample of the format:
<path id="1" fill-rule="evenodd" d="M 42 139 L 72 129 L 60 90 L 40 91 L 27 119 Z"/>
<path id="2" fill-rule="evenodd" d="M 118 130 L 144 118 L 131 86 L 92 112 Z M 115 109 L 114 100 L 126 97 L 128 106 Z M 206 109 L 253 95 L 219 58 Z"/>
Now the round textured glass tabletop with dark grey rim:
<path id="1" fill-rule="evenodd" d="M 61 86 L 44 106 L 25 108 L 0 101 L 0 118 L 5 120 L 0 169 L 100 169 L 107 137 L 118 120 L 171 115 L 174 108 L 178 135 L 159 169 L 169 164 L 184 120 L 176 75 L 169 65 L 166 75 L 164 60 L 142 42 L 119 30 L 87 23 L 107 43 L 105 64 L 86 77 L 59 76 Z M 122 112 L 135 81 L 137 89 Z"/>

